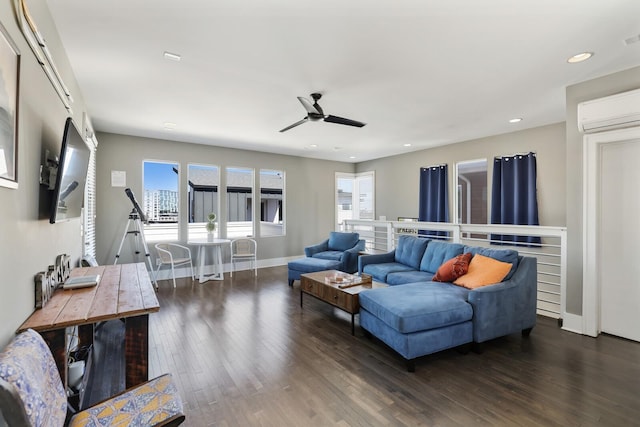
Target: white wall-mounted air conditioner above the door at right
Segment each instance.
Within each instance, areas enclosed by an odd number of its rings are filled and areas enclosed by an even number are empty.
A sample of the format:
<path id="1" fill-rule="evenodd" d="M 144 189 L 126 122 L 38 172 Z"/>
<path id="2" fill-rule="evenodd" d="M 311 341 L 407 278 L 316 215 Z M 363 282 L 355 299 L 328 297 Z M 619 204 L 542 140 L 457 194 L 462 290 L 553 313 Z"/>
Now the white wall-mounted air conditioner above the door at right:
<path id="1" fill-rule="evenodd" d="M 578 129 L 593 133 L 640 126 L 640 89 L 578 104 Z"/>

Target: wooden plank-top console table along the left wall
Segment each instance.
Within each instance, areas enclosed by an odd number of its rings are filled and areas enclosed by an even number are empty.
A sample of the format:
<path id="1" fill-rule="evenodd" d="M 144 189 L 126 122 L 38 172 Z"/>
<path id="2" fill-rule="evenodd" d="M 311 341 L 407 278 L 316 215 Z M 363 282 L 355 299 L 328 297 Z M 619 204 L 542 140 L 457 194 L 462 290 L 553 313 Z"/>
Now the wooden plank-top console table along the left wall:
<path id="1" fill-rule="evenodd" d="M 90 288 L 58 289 L 47 304 L 20 326 L 38 331 L 49 345 L 65 386 L 67 384 L 66 328 L 78 326 L 81 345 L 93 343 L 98 322 L 125 322 L 125 384 L 133 387 L 148 380 L 149 313 L 160 309 L 144 263 L 75 268 L 71 277 L 99 274 Z"/>

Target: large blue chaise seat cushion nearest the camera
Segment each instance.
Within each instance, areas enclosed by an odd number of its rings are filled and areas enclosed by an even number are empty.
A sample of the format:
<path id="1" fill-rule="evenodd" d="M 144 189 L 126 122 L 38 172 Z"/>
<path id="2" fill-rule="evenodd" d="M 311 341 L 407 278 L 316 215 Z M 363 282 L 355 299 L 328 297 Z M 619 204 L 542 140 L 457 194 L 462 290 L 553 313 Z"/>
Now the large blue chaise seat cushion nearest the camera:
<path id="1" fill-rule="evenodd" d="M 408 334 L 471 320 L 468 293 L 449 283 L 409 283 L 362 291 L 359 301 L 389 327 Z"/>

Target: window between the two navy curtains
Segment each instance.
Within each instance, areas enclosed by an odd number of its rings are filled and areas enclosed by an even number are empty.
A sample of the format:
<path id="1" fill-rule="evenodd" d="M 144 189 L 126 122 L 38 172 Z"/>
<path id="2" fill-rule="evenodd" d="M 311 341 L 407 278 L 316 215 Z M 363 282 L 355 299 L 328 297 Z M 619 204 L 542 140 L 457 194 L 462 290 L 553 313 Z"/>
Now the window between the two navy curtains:
<path id="1" fill-rule="evenodd" d="M 488 224 L 487 159 L 458 163 L 456 181 L 456 222 Z"/>

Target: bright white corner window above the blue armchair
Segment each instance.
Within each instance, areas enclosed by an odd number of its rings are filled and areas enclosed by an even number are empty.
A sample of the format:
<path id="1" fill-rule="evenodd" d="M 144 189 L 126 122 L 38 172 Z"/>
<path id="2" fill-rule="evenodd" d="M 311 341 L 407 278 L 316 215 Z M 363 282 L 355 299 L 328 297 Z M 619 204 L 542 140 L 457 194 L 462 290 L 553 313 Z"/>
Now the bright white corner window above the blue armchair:
<path id="1" fill-rule="evenodd" d="M 336 173 L 336 224 L 375 218 L 375 173 Z"/>

